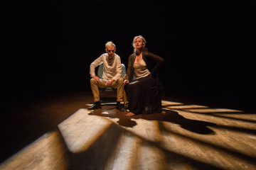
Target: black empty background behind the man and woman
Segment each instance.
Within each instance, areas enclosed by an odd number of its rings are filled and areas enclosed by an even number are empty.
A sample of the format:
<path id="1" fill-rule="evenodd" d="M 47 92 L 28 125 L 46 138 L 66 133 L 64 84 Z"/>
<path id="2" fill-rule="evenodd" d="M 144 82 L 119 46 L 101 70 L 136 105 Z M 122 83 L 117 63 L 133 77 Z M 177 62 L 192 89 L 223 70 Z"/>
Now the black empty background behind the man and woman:
<path id="1" fill-rule="evenodd" d="M 127 66 L 143 35 L 164 58 L 164 91 L 235 106 L 255 101 L 253 1 L 9 1 L 4 6 L 2 105 L 90 91 L 90 63 L 112 40 Z"/>

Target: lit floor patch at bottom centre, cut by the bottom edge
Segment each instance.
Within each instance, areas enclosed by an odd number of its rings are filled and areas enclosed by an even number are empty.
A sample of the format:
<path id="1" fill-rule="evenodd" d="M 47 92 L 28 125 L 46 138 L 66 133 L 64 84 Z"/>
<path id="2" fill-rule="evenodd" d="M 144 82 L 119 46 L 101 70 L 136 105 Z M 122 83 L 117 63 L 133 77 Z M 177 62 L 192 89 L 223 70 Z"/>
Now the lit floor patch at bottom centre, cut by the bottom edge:
<path id="1" fill-rule="evenodd" d="M 162 149 L 125 128 L 119 126 L 118 129 L 120 135 L 113 152 L 108 155 L 105 169 L 163 169 L 165 154 Z M 150 164 L 145 160 L 150 160 Z"/>

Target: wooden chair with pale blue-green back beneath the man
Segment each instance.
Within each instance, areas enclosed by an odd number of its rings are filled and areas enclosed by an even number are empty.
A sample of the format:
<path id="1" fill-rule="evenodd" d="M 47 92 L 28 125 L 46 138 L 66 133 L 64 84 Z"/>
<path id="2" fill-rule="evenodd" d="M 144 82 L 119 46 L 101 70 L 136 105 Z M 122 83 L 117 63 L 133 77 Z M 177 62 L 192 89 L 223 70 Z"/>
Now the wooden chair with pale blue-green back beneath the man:
<path id="1" fill-rule="evenodd" d="M 102 76 L 103 76 L 103 64 L 100 64 L 98 70 L 97 70 L 97 77 L 99 77 L 100 79 L 102 79 Z M 122 64 L 122 78 L 123 79 L 126 79 L 126 68 L 124 66 L 124 64 Z M 99 89 L 99 92 L 112 92 L 114 91 L 115 92 L 115 96 L 117 96 L 117 89 L 114 89 L 112 87 L 106 87 L 106 88 L 100 88 L 98 87 Z M 101 96 L 101 95 L 100 95 Z M 111 96 L 111 95 L 110 95 Z M 125 94 L 125 91 L 124 91 L 124 106 L 127 106 L 127 96 Z"/>

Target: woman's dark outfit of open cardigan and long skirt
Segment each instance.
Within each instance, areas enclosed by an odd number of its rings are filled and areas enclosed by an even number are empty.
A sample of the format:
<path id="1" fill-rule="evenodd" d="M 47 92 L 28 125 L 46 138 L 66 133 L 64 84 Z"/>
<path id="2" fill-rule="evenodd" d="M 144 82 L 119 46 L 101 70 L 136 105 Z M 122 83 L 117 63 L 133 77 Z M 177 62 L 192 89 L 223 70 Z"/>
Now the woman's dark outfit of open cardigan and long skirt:
<path id="1" fill-rule="evenodd" d="M 129 56 L 127 80 L 130 83 L 124 86 L 129 102 L 129 111 L 134 114 L 161 113 L 162 86 L 156 72 L 161 68 L 164 59 L 151 52 L 142 52 L 142 59 L 151 75 L 132 80 L 135 57 L 136 53 Z"/>

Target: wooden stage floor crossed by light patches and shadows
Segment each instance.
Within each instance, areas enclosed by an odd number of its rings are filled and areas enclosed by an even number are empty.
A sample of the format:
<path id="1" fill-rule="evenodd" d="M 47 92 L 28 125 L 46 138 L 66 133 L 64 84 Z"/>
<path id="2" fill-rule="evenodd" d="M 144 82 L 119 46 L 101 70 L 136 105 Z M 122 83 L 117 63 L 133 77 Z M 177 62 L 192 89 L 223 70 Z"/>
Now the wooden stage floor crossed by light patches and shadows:
<path id="1" fill-rule="evenodd" d="M 111 98 L 88 111 L 91 93 L 24 103 L 6 117 L 0 169 L 256 169 L 255 113 L 169 98 L 132 118 Z"/>

